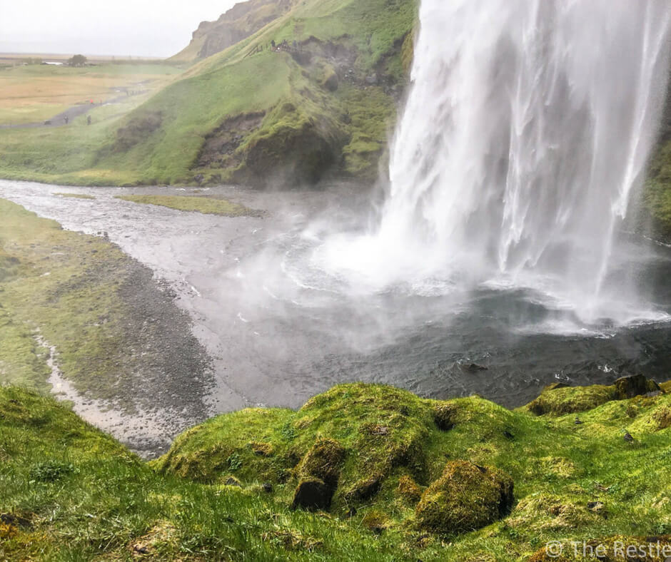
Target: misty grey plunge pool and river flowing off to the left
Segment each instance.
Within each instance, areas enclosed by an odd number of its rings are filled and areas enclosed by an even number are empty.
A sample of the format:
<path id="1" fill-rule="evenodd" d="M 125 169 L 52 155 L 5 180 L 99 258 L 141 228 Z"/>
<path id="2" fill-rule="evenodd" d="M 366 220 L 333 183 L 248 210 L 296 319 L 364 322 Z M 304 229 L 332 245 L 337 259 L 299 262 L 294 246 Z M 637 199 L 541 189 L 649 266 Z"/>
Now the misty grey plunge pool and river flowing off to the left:
<path id="1" fill-rule="evenodd" d="M 95 200 L 54 193 L 86 193 Z M 348 292 L 311 261 L 313 218 L 347 223 L 368 205 L 347 185 L 328 192 L 202 192 L 263 210 L 226 218 L 114 198 L 188 195 L 176 188 L 64 188 L 0 180 L 0 197 L 64 228 L 107 233 L 169 282 L 214 359 L 211 413 L 251 404 L 298 407 L 339 382 L 383 382 L 425 397 L 478 393 L 508 407 L 546 384 L 610 383 L 671 374 L 671 324 L 582 325 L 575 312 L 533 290 L 476 287 Z M 662 318 L 671 314 L 671 249 L 630 237 L 640 284 Z M 625 254 L 627 254 L 625 252 Z M 185 389 L 188 392 L 188 389 Z"/>

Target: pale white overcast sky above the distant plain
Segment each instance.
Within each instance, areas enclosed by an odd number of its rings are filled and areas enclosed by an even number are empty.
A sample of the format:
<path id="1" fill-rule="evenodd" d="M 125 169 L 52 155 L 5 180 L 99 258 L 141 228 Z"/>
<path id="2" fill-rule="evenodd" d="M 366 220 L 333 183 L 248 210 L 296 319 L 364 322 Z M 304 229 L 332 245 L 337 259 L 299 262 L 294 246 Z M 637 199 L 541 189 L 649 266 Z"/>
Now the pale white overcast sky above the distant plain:
<path id="1" fill-rule="evenodd" d="M 239 0 L 238 0 L 239 1 Z M 0 0 L 0 53 L 171 56 L 236 0 Z"/>

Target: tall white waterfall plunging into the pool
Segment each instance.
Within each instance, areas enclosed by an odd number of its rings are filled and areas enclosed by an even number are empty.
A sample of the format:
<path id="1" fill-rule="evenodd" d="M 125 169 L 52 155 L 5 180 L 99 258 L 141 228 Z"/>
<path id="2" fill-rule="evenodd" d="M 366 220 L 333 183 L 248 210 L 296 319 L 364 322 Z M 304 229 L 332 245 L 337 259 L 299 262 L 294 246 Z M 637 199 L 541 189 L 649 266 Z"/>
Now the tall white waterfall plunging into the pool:
<path id="1" fill-rule="evenodd" d="M 532 286 L 609 315 L 670 29 L 668 0 L 423 0 L 380 217 L 322 262 L 378 289 Z"/>

